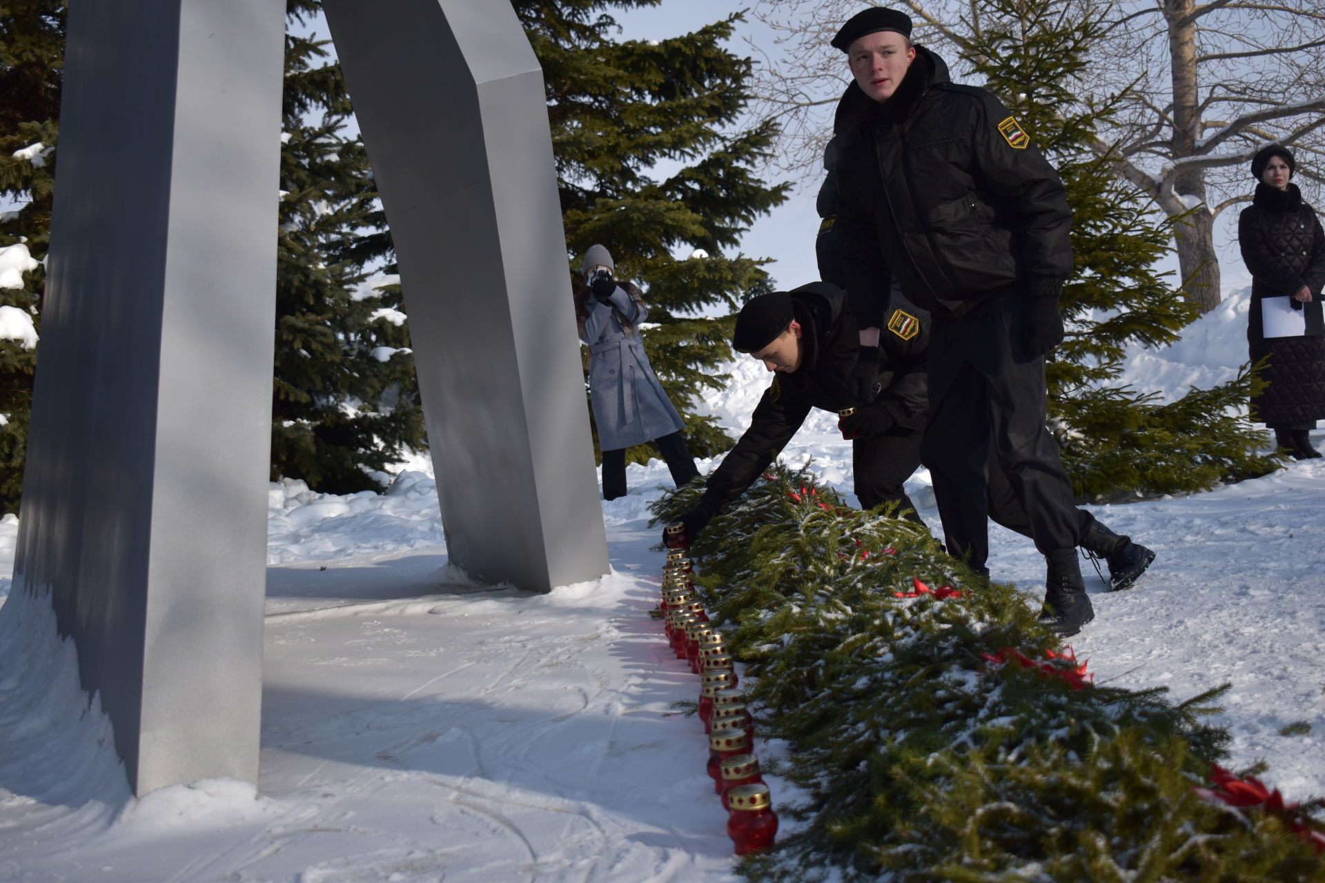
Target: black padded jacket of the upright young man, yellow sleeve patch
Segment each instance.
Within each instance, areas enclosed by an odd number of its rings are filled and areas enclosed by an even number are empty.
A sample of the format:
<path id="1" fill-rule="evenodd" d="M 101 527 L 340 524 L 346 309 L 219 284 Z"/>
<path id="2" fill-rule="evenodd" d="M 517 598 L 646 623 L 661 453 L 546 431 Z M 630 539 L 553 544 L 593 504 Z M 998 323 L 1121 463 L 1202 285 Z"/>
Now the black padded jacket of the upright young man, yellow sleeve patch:
<path id="1" fill-rule="evenodd" d="M 878 324 L 889 277 L 935 318 L 1072 274 L 1072 212 L 1057 172 L 994 95 L 949 82 L 924 46 L 889 101 L 855 82 L 837 105 L 836 181 L 847 291 Z"/>

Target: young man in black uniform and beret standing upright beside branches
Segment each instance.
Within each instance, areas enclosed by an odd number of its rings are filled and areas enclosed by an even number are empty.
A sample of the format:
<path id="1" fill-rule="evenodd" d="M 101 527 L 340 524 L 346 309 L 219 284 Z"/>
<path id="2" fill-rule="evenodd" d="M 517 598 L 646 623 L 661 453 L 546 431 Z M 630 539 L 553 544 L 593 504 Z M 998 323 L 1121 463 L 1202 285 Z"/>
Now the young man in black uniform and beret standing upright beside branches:
<path id="1" fill-rule="evenodd" d="M 905 13 L 874 7 L 832 40 L 853 78 L 833 128 L 836 229 L 861 328 L 856 395 L 867 397 L 897 281 L 931 314 L 921 454 L 949 551 L 974 565 L 988 556 L 992 457 L 1048 564 L 1041 618 L 1076 634 L 1094 617 L 1076 555 L 1081 526 L 1044 426 L 1044 355 L 1063 340 L 1072 212 L 1012 114 L 990 93 L 951 83 L 910 29 Z"/>

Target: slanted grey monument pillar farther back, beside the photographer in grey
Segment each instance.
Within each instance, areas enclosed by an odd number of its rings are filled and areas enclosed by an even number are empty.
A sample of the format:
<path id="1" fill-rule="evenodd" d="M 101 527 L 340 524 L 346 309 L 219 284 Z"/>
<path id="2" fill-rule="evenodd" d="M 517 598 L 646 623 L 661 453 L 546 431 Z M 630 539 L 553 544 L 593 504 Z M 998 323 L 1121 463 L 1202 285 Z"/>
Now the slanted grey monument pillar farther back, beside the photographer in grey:
<path id="1" fill-rule="evenodd" d="M 598 579 L 594 477 L 543 71 L 505 0 L 325 0 L 396 245 L 447 548 Z"/>

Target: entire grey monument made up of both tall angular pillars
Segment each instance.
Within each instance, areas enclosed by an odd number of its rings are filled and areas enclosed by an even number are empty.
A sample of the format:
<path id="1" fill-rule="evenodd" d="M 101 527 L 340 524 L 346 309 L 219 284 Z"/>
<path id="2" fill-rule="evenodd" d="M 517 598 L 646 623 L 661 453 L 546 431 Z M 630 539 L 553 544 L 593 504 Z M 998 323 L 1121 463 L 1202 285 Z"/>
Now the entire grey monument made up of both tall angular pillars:
<path id="1" fill-rule="evenodd" d="M 453 560 L 607 571 L 542 77 L 506 3 L 327 3 Z M 257 780 L 282 0 L 78 3 L 15 592 L 139 794 Z"/>

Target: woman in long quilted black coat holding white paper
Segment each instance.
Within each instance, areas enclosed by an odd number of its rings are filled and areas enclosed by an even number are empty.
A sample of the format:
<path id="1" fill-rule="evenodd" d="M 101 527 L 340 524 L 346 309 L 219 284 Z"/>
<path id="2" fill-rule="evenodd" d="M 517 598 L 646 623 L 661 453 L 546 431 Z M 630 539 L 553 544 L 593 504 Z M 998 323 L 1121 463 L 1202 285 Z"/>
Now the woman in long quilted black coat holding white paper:
<path id="1" fill-rule="evenodd" d="M 1238 221 L 1238 245 L 1251 270 L 1251 315 L 1247 342 L 1251 360 L 1269 356 L 1261 379 L 1265 389 L 1251 400 L 1253 420 L 1275 430 L 1280 447 L 1295 459 L 1320 457 L 1308 433 L 1325 417 L 1325 234 L 1310 205 L 1292 183 L 1297 163 L 1279 144 L 1251 162 L 1256 196 Z M 1267 338 L 1265 298 L 1302 311 L 1304 335 Z"/>

